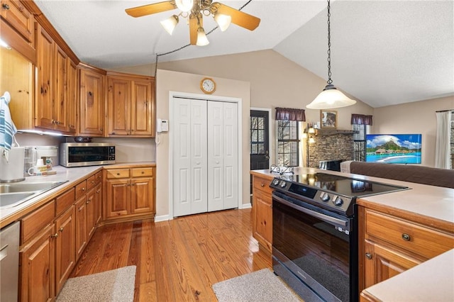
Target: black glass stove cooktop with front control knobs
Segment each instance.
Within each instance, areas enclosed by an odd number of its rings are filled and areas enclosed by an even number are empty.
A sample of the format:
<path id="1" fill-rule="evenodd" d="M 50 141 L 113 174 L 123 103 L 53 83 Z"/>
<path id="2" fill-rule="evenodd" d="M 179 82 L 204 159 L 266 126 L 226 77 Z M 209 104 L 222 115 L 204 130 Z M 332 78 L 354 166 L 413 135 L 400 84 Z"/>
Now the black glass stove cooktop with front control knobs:
<path id="1" fill-rule="evenodd" d="M 276 191 L 303 198 L 316 206 L 347 216 L 354 215 L 356 198 L 409 189 L 406 186 L 327 173 L 279 175 L 271 181 L 270 186 Z"/>

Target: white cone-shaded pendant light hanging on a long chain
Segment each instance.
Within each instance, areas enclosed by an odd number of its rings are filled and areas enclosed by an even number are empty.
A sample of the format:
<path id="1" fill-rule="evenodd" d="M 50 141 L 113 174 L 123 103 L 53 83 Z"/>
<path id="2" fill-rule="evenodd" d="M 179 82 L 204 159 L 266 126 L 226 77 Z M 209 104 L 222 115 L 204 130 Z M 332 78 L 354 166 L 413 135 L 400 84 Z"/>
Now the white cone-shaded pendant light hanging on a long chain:
<path id="1" fill-rule="evenodd" d="M 328 0 L 328 81 L 327 85 L 321 93 L 307 105 L 309 109 L 332 109 L 351 106 L 356 104 L 356 101 L 348 98 L 340 90 L 333 85 L 331 79 L 331 23 L 330 23 L 330 0 Z"/>

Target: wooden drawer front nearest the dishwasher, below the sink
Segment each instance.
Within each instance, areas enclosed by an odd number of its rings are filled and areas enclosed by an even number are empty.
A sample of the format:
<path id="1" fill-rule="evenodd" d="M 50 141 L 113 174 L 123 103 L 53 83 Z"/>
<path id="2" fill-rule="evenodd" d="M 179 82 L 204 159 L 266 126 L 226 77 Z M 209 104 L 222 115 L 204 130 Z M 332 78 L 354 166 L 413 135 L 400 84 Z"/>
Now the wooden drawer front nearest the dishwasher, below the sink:
<path id="1" fill-rule="evenodd" d="M 55 218 L 55 199 L 21 220 L 21 245 Z"/>

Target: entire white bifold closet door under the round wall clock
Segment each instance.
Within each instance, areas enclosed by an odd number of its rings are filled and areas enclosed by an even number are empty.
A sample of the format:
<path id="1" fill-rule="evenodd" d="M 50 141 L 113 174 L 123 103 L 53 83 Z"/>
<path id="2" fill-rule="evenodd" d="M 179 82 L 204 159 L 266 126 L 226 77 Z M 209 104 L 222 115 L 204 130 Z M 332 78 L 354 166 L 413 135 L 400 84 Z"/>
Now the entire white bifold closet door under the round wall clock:
<path id="1" fill-rule="evenodd" d="M 173 212 L 238 207 L 238 104 L 173 98 Z"/>

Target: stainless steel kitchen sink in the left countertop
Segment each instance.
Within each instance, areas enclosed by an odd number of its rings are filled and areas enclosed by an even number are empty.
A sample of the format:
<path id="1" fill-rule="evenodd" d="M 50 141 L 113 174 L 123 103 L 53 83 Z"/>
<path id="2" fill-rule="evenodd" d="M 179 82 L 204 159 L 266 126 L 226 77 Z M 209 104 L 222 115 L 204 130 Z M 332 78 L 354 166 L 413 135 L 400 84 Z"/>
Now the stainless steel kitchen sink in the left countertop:
<path id="1" fill-rule="evenodd" d="M 67 180 L 0 184 L 0 208 L 13 208 L 65 182 Z"/>

